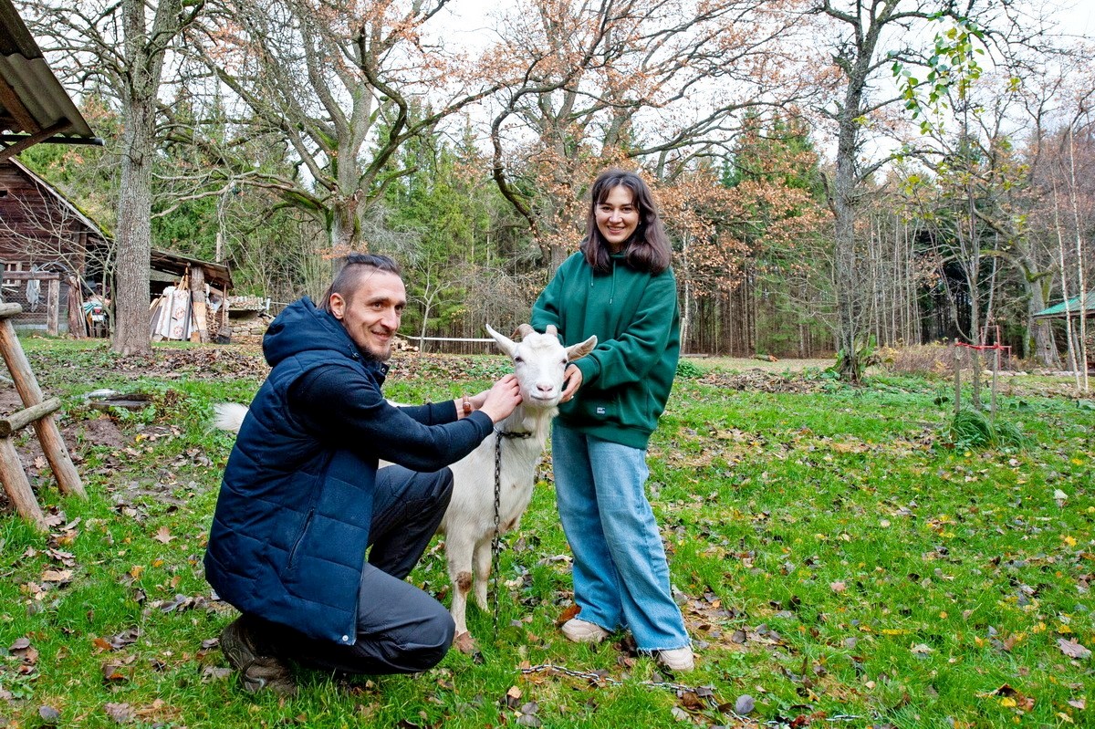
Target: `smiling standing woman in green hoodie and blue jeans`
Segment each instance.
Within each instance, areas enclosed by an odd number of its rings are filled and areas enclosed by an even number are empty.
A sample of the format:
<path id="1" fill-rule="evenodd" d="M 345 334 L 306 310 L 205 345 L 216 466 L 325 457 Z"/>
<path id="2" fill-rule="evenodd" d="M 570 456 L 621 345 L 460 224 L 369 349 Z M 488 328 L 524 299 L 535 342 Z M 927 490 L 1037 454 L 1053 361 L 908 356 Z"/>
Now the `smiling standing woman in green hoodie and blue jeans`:
<path id="1" fill-rule="evenodd" d="M 693 668 L 691 641 L 646 499 L 646 447 L 680 354 L 671 250 L 649 187 L 608 170 L 593 182 L 586 238 L 537 300 L 532 325 L 565 345 L 597 335 L 567 366 L 552 431 L 555 490 L 574 553 L 579 617 L 563 635 L 599 643 L 620 627 L 665 668 Z"/>

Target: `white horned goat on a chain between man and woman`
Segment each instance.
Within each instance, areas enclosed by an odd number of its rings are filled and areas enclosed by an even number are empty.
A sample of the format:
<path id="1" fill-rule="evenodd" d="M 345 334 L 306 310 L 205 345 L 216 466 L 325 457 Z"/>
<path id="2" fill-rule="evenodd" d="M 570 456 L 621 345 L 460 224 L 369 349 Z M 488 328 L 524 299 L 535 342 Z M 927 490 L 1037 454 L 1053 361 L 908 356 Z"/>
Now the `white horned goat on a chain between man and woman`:
<path id="1" fill-rule="evenodd" d="M 597 337 L 570 347 L 558 342 L 554 326 L 544 334 L 521 324 L 520 342 L 487 332 L 514 362 L 521 387 L 521 404 L 474 451 L 457 461 L 452 470 L 452 499 L 445 512 L 439 534 L 445 534 L 445 552 L 452 580 L 452 620 L 457 646 L 469 652 L 474 640 L 468 634 L 468 593 L 474 586 L 475 602 L 487 610 L 487 580 L 491 576 L 491 542 L 494 525 L 495 448 L 502 439 L 499 470 L 498 533 L 517 529 L 532 498 L 537 463 L 543 453 L 551 421 L 558 414 L 563 373 L 567 362 L 585 357 L 597 346 Z M 234 403 L 214 406 L 215 427 L 238 432 L 247 408 Z M 381 465 L 387 465 L 381 461 Z"/>

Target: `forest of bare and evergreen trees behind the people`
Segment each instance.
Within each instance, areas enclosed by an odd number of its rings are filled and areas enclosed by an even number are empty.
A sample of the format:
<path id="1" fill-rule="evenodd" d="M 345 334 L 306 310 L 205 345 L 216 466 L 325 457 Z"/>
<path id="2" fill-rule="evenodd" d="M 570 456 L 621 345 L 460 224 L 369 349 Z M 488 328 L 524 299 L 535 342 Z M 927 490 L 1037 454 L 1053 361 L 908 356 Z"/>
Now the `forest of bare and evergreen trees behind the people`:
<path id="1" fill-rule="evenodd" d="M 118 351 L 149 347 L 150 247 L 275 302 L 389 253 L 405 333 L 516 325 L 620 165 L 658 196 L 685 351 L 837 352 L 851 380 L 877 345 L 1083 357 L 1082 319 L 1033 319 L 1095 265 L 1070 3 L 78 4 L 16 2 L 105 146 L 21 160 L 113 233 Z"/>

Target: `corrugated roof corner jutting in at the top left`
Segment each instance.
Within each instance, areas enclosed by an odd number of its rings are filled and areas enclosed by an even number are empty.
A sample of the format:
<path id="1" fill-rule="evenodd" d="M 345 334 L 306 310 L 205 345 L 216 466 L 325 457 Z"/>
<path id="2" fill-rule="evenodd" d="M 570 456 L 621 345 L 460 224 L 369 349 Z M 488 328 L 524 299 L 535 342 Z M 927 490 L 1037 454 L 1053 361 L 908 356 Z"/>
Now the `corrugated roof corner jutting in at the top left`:
<path id="1" fill-rule="evenodd" d="M 42 141 L 100 143 L 12 0 L 0 0 L 0 161 Z"/>

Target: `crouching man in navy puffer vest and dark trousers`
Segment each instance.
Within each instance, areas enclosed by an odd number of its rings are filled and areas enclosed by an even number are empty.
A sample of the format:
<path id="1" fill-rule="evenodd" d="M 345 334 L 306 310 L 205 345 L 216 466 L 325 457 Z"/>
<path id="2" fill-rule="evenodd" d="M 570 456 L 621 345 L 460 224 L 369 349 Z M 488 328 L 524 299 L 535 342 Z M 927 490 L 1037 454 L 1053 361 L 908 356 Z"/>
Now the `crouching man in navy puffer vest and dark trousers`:
<path id="1" fill-rule="evenodd" d="M 273 369 L 229 456 L 205 558 L 242 613 L 220 646 L 249 691 L 293 693 L 288 659 L 410 673 L 452 643 L 445 608 L 403 578 L 448 506 L 446 465 L 521 396 L 507 375 L 460 402 L 390 405 L 380 387 L 405 305 L 397 264 L 354 254 L 320 308 L 297 301 L 263 338 Z M 378 472 L 380 459 L 396 465 Z"/>

